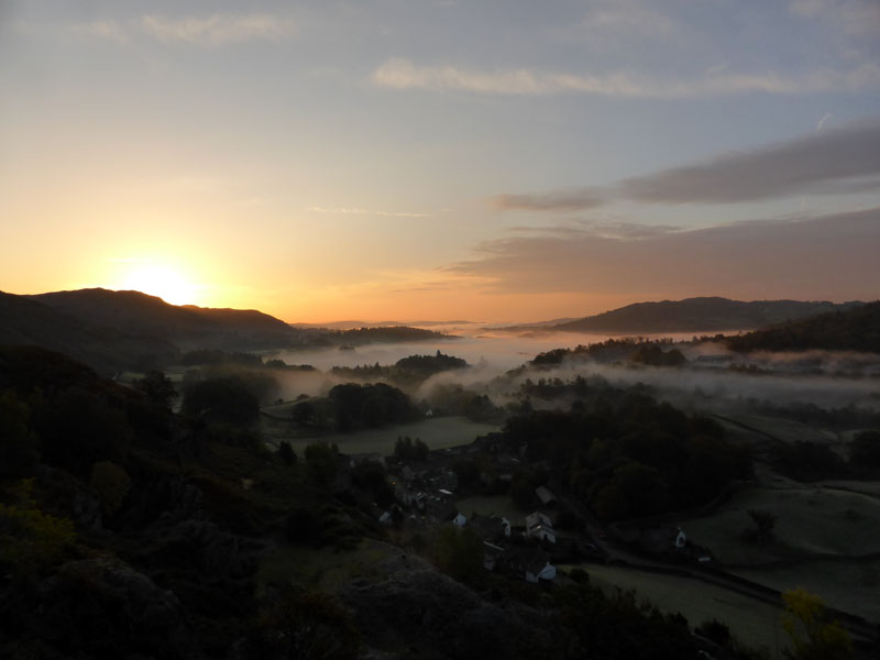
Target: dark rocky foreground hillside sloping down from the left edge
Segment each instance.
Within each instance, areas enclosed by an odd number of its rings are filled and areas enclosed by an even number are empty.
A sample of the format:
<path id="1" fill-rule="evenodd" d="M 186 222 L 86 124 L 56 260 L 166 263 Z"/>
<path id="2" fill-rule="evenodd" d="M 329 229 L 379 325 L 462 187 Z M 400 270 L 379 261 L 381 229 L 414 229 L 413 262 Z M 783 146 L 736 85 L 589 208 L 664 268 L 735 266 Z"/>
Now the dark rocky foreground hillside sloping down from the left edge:
<path id="1" fill-rule="evenodd" d="M 583 573 L 457 582 L 389 544 L 365 493 L 343 504 L 320 457 L 283 460 L 57 353 L 0 348 L 0 426 L 3 658 L 697 657 L 680 617 Z M 364 538 L 380 559 L 336 586 L 298 578 Z M 274 579 L 270 556 L 293 558 Z"/>

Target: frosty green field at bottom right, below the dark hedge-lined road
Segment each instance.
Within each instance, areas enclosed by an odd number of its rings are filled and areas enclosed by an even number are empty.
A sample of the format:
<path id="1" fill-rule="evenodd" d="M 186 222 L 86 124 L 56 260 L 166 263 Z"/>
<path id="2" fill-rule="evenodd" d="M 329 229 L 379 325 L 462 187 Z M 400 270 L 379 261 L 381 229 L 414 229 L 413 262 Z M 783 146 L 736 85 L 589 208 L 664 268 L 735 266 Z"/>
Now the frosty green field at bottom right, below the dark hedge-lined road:
<path id="1" fill-rule="evenodd" d="M 713 618 L 724 622 L 740 641 L 766 649 L 771 658 L 781 658 L 789 648 L 779 607 L 688 578 L 592 563 L 579 568 L 606 593 L 634 590 L 637 598 L 647 598 L 661 612 L 680 612 L 692 626 Z"/>

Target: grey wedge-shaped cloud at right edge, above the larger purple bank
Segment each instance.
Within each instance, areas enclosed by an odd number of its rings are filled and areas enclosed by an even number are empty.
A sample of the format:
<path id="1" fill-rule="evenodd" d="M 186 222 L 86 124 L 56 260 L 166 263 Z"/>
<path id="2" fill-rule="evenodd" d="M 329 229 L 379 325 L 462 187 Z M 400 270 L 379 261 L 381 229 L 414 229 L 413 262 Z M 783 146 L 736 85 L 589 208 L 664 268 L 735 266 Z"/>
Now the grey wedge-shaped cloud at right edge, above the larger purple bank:
<path id="1" fill-rule="evenodd" d="M 646 202 L 737 202 L 799 193 L 880 190 L 880 118 L 809 133 L 765 148 L 634 177 L 623 197 Z M 875 177 L 865 180 L 865 177 Z"/>

